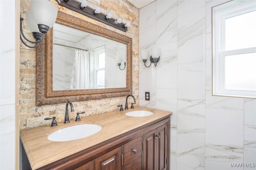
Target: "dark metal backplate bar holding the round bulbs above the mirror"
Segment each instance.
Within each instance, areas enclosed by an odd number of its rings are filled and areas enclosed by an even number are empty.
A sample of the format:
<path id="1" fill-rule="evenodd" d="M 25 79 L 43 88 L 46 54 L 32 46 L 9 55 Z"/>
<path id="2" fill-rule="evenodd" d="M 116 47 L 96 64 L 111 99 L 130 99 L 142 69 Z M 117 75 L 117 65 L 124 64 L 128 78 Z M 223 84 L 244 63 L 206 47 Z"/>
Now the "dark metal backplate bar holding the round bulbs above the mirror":
<path id="1" fill-rule="evenodd" d="M 64 6 L 70 10 L 76 11 L 80 14 L 93 18 L 97 21 L 106 23 L 107 25 L 120 29 L 124 32 L 127 31 L 127 27 L 125 26 L 124 23 L 115 23 L 116 19 L 114 18 L 109 18 L 108 20 L 106 20 L 105 19 L 106 14 L 98 13 L 95 15 L 94 9 L 90 8 L 89 6 L 86 6 L 83 9 L 81 9 L 80 8 L 81 2 L 78 2 L 76 0 L 56 0 L 56 1 L 58 2 L 59 5 Z"/>

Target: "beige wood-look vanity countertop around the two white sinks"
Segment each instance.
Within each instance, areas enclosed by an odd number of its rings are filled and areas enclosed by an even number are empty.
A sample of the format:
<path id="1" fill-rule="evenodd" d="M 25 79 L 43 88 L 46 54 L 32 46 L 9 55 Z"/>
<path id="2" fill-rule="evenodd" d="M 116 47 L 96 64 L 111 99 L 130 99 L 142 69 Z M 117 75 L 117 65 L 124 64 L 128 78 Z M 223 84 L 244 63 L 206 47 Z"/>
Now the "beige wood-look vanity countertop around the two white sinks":
<path id="1" fill-rule="evenodd" d="M 130 117 L 125 115 L 126 112 L 134 110 L 148 110 L 154 112 L 154 114 L 146 117 Z M 79 122 L 75 120 L 70 120 L 70 123 L 66 124 L 57 122 L 58 126 L 56 127 L 46 125 L 24 129 L 20 131 L 20 139 L 26 150 L 30 166 L 34 170 L 170 114 L 172 114 L 170 111 L 135 106 L 134 109 L 124 111 L 116 110 L 81 117 L 81 121 Z M 43 118 L 42 121 L 44 121 Z M 102 126 L 102 130 L 89 137 L 74 141 L 54 142 L 47 139 L 48 135 L 58 129 L 84 123 L 100 125 Z"/>

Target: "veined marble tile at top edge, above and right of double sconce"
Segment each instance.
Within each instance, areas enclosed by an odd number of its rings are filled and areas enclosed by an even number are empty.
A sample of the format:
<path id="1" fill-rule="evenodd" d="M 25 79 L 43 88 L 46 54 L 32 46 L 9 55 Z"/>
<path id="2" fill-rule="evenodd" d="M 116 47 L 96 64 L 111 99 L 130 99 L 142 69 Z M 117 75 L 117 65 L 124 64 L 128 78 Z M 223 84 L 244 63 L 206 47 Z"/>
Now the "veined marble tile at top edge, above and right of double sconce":
<path id="1" fill-rule="evenodd" d="M 177 1 L 156 1 L 156 43 L 177 41 Z"/>

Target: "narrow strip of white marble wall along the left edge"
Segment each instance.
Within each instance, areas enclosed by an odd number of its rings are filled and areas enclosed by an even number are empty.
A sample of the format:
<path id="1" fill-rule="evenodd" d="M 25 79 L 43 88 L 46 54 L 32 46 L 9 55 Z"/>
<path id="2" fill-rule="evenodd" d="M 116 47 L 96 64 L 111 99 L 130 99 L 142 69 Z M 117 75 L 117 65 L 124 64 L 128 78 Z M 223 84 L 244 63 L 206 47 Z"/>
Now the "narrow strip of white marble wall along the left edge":
<path id="1" fill-rule="evenodd" d="M 15 1 L 0 1 L 0 169 L 16 166 Z M 12 6 L 13 8 L 9 8 Z M 4 14 L 4 15 L 2 15 Z M 8 16 L 8 17 L 6 17 Z M 6 26 L 8 25 L 8 26 Z M 8 43 L 7 43 L 8 42 Z M 18 154 L 18 152 L 17 152 Z"/>

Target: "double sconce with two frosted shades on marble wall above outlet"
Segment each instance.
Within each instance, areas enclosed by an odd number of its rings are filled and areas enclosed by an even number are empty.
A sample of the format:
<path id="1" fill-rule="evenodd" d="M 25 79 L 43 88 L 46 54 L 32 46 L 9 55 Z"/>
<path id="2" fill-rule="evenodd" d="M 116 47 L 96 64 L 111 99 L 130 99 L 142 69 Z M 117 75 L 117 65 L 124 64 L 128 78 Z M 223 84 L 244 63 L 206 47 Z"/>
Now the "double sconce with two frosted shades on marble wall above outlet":
<path id="1" fill-rule="evenodd" d="M 156 63 L 160 60 L 160 53 L 161 48 L 159 47 L 152 47 L 151 48 L 151 56 L 150 56 L 150 65 L 146 66 L 146 62 L 149 56 L 149 50 L 148 49 L 141 49 L 140 50 L 140 57 L 142 58 L 142 61 L 146 67 L 150 67 L 151 63 L 154 63 L 156 66 Z"/>

